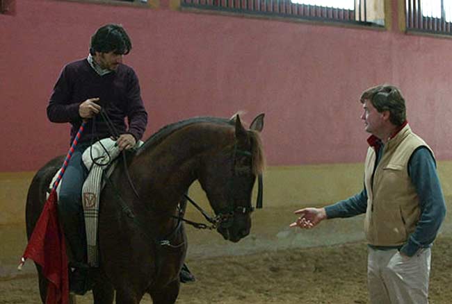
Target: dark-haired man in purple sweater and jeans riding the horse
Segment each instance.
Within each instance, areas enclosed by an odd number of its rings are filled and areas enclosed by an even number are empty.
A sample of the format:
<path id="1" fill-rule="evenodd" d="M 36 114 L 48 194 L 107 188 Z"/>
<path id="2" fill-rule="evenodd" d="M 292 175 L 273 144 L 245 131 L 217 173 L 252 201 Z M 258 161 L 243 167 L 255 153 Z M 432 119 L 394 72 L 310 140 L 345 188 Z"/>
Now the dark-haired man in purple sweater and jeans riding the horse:
<path id="1" fill-rule="evenodd" d="M 63 67 L 54 86 L 47 117 L 56 123 L 72 125 L 74 139 L 82 121 L 86 127 L 72 153 L 58 196 L 58 219 L 69 244 L 70 289 L 76 294 L 86 292 L 86 232 L 81 205 L 81 189 L 88 175 L 81 155 L 97 140 L 111 137 L 106 121 L 97 119 L 102 110 L 120 134 L 116 144 L 120 151 L 128 150 L 141 139 L 147 125 L 147 112 L 140 96 L 140 85 L 134 69 L 122 63 L 131 51 L 131 40 L 118 24 L 106 24 L 91 38 L 88 58 L 70 62 Z M 127 117 L 128 124 L 124 119 Z M 194 280 L 184 267 L 181 281 Z"/>

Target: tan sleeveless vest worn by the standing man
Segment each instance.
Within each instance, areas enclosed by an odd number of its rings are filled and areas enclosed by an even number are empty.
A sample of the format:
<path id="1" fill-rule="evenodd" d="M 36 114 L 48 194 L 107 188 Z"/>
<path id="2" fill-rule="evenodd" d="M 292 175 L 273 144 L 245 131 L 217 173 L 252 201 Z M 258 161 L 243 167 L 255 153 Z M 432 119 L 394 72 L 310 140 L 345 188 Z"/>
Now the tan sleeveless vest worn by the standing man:
<path id="1" fill-rule="evenodd" d="M 406 125 L 385 144 L 373 182 L 376 153 L 372 147 L 367 151 L 364 183 L 368 199 L 364 232 L 371 245 L 402 245 L 416 228 L 421 211 L 416 189 L 408 175 L 408 161 L 419 146 L 426 146 L 433 155 L 426 142 Z"/>

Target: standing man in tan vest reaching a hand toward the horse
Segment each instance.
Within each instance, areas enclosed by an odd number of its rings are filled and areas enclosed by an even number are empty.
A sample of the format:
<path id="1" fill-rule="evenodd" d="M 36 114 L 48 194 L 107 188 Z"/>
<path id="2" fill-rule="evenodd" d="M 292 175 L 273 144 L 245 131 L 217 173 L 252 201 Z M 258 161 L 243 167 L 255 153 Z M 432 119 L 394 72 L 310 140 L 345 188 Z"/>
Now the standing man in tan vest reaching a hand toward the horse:
<path id="1" fill-rule="evenodd" d="M 428 303 L 430 246 L 446 214 L 433 151 L 412 133 L 397 87 L 361 96 L 367 140 L 364 189 L 325 208 L 296 210 L 291 227 L 366 213 L 367 279 L 373 304 Z"/>

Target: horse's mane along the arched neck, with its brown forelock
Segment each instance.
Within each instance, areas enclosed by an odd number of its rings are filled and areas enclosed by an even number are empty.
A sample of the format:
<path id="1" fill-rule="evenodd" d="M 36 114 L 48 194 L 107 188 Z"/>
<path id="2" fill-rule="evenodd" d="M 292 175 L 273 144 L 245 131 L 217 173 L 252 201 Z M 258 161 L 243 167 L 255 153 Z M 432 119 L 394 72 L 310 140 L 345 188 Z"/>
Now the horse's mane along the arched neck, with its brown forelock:
<path id="1" fill-rule="evenodd" d="M 145 151 L 147 149 L 152 149 L 154 146 L 160 144 L 166 137 L 170 136 L 175 131 L 189 126 L 191 124 L 199 124 L 199 123 L 213 123 L 213 124 L 227 124 L 229 126 L 234 126 L 234 120 L 220 117 L 193 117 L 181 121 L 177 121 L 172 124 L 168 124 L 167 126 L 163 126 L 156 133 L 151 135 L 145 143 L 140 146 L 140 148 L 136 151 L 136 153 L 140 153 L 141 151 Z M 261 139 L 258 132 L 253 130 L 248 130 L 248 134 L 250 135 L 250 140 L 252 143 L 252 171 L 254 174 L 261 174 L 264 171 L 265 161 L 264 161 L 264 151 L 262 149 Z"/>

